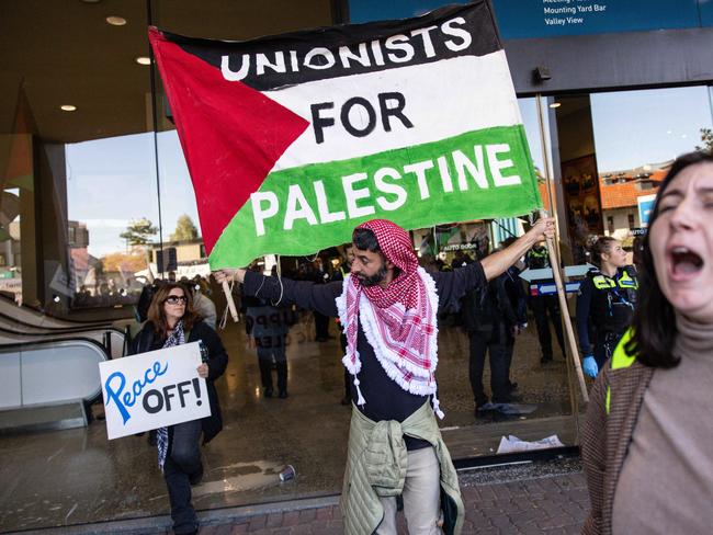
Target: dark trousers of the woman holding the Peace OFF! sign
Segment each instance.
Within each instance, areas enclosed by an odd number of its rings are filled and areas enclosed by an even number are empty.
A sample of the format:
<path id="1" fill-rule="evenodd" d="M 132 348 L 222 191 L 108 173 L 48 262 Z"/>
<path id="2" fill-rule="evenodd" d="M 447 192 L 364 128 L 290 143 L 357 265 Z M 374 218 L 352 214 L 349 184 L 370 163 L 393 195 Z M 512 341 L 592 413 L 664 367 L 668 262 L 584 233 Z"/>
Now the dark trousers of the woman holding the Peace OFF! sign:
<path id="1" fill-rule="evenodd" d="M 163 479 L 171 504 L 171 520 L 177 535 L 194 533 L 199 520 L 191 503 L 190 477 L 203 469 L 201 464 L 201 420 L 179 423 L 169 429 L 170 443 Z"/>

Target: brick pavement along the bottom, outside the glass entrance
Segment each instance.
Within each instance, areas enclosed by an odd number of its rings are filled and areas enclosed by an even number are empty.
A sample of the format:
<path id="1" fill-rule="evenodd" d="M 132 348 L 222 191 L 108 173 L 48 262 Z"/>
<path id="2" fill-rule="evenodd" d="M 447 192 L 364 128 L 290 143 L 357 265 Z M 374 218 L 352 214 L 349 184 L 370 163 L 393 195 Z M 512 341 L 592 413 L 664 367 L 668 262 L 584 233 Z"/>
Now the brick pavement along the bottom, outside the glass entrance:
<path id="1" fill-rule="evenodd" d="M 464 534 L 577 534 L 589 508 L 577 459 L 561 459 L 460 473 Z M 201 535 L 338 535 L 343 532 L 338 497 L 296 500 L 200 513 Z M 403 513 L 399 534 L 407 534 Z M 25 534 L 169 534 L 170 519 L 156 516 Z"/>

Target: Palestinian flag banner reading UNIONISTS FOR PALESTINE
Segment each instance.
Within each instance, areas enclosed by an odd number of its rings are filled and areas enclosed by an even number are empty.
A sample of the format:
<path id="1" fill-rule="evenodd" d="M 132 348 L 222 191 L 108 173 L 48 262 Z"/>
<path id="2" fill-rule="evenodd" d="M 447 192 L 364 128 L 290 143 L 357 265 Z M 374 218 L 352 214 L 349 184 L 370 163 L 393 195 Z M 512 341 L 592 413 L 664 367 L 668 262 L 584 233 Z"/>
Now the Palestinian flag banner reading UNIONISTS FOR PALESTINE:
<path id="1" fill-rule="evenodd" d="M 149 30 L 212 269 L 541 207 L 486 0 L 247 42 Z"/>

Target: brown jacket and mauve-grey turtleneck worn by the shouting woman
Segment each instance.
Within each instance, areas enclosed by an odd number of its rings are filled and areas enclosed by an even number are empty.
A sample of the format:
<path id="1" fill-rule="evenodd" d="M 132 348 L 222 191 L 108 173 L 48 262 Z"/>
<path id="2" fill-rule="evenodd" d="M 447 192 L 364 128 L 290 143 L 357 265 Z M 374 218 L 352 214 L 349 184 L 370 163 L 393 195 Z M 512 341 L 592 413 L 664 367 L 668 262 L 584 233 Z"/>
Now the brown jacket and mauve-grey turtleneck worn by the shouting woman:
<path id="1" fill-rule="evenodd" d="M 591 500 L 584 534 L 710 533 L 713 511 L 710 505 L 698 508 L 702 500 L 710 504 L 713 489 L 706 454 L 713 431 L 713 383 L 711 375 L 705 375 L 711 373 L 713 329 L 682 318 L 677 327 L 678 367 L 652 368 L 634 362 L 630 367 L 611 369 L 607 364 L 595 383 L 581 443 Z M 700 376 L 692 377 L 691 373 Z M 701 405 L 692 409 L 693 402 Z M 686 414 L 679 420 L 689 410 L 706 416 Z M 705 442 L 698 442 L 701 439 Z M 692 497 L 697 492 L 703 496 Z M 661 512 L 666 521 L 661 521 Z M 689 527 L 699 525 L 705 528 Z"/>

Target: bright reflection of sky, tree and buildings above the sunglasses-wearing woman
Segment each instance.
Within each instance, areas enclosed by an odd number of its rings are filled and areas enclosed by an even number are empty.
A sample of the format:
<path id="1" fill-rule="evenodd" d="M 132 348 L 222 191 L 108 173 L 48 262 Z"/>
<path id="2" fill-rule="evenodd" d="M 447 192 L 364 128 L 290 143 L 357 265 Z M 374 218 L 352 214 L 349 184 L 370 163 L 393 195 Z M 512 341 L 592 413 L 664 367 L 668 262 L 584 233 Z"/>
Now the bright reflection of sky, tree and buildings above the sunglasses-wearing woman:
<path id="1" fill-rule="evenodd" d="M 156 275 L 152 135 L 69 144 L 66 156 L 72 307 L 134 304 Z"/>

